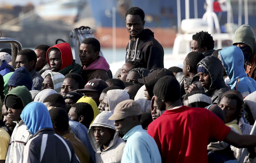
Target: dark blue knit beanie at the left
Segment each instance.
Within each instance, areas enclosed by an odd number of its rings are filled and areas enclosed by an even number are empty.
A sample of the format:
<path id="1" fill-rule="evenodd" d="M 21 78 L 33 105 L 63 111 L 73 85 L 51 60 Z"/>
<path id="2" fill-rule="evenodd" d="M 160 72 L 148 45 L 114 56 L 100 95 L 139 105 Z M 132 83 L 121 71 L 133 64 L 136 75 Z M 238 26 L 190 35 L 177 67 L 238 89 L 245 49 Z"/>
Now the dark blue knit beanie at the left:
<path id="1" fill-rule="evenodd" d="M 14 86 L 14 87 L 24 85 L 28 88 L 28 90 L 31 90 L 33 81 L 28 70 L 25 67 L 20 67 L 14 71 L 7 85 Z"/>

